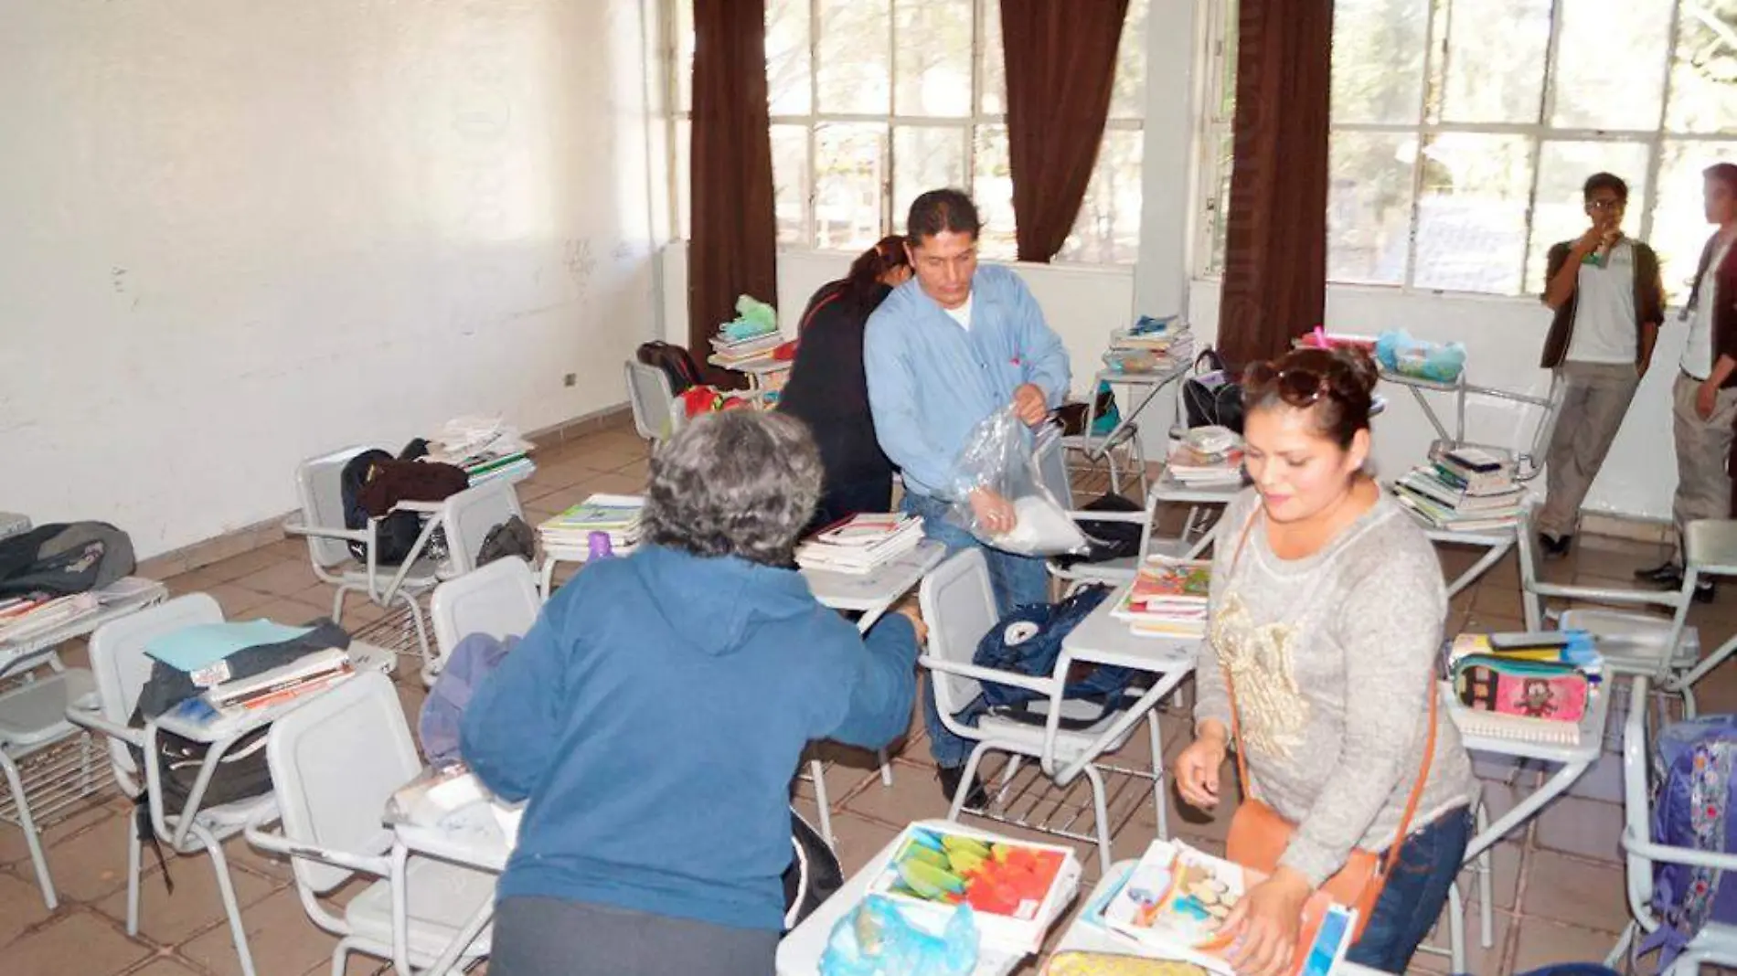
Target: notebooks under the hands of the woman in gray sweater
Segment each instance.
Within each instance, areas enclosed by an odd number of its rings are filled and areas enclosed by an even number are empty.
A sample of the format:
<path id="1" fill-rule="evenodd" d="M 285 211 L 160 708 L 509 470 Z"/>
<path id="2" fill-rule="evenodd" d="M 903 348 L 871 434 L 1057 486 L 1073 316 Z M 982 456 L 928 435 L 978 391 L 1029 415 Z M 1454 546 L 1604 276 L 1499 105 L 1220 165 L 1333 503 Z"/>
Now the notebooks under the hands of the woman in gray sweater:
<path id="1" fill-rule="evenodd" d="M 1086 907 L 1089 924 L 1131 940 L 1141 955 L 1183 959 L 1232 976 L 1225 922 L 1266 875 L 1179 841 L 1153 841 L 1120 887 Z M 1303 907 L 1291 974 L 1325 976 L 1350 948 L 1357 912 L 1317 891 Z"/>

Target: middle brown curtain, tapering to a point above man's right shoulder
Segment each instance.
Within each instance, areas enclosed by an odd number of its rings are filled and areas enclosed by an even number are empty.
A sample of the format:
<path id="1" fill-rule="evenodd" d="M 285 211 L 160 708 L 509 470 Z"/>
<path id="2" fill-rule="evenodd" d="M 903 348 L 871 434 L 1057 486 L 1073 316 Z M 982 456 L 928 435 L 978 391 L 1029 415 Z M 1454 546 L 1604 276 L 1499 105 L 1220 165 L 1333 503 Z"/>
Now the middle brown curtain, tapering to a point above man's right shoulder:
<path id="1" fill-rule="evenodd" d="M 1001 0 L 1020 260 L 1047 262 L 1073 231 L 1110 115 L 1126 19 L 1127 0 Z"/>

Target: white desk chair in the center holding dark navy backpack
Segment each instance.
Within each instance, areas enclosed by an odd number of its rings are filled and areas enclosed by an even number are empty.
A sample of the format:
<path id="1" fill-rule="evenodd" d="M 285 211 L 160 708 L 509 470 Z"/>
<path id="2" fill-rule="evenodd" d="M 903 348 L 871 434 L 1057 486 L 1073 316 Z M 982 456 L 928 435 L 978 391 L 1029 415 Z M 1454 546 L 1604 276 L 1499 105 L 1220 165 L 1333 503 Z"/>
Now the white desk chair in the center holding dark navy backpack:
<path id="1" fill-rule="evenodd" d="M 924 577 L 917 590 L 917 601 L 922 606 L 922 618 L 929 623 L 929 646 L 917 658 L 917 663 L 929 670 L 929 679 L 935 686 L 935 705 L 941 714 L 941 724 L 954 735 L 976 742 L 971 757 L 966 761 L 964 775 L 959 778 L 959 790 L 954 794 L 952 809 L 947 813 L 948 820 L 959 820 L 959 814 L 964 811 L 966 795 L 971 792 L 969 785 L 976 781 L 978 764 L 987 752 L 1006 752 L 1014 761 L 1021 755 L 1037 759 L 1042 771 L 1053 780 L 1058 776 L 1061 766 L 1077 762 L 1082 757 L 1096 757 L 1091 752 L 1094 740 L 1122 717 L 1122 712 L 1110 712 L 1086 729 L 1063 729 L 1058 726 L 1058 719 L 1061 717 L 1094 717 L 1100 712 L 1100 707 L 1091 702 L 1065 702 L 1061 698 L 1065 676 L 1032 677 L 971 663 L 978 641 L 995 627 L 999 618 L 995 594 L 988 580 L 988 564 L 983 561 L 981 549 L 973 547 L 955 552 L 933 573 Z M 980 683 L 983 681 L 1028 688 L 1046 695 L 1047 700 L 1037 702 L 1035 709 L 1049 721 L 1044 726 L 1016 722 L 999 716 L 981 716 L 976 726 L 957 721 L 954 716 L 978 696 L 981 689 Z M 1164 762 L 1164 742 L 1159 731 L 1157 709 L 1146 714 L 1146 726 L 1152 736 L 1153 771 L 1138 775 L 1152 780 L 1152 804 L 1157 811 L 1159 835 L 1167 837 L 1169 818 L 1164 809 L 1162 775 L 1159 773 L 1159 766 Z M 1131 731 L 1133 726 L 1122 736 L 1108 742 L 1106 748 L 1122 748 Z M 1011 778 L 1011 769 L 1013 766 L 1009 764 L 1009 773 L 1002 778 L 1002 790 L 1007 778 Z M 1108 872 L 1110 813 L 1105 802 L 1103 773 L 1089 761 L 1080 766 L 1080 773 L 1091 783 L 1093 809 L 1098 821 L 1096 837 L 1044 827 L 1037 827 L 1035 830 L 1096 842 L 1098 860 L 1103 870 Z M 1067 787 L 1068 783 L 1056 780 L 1056 785 Z M 981 809 L 971 813 L 988 820 L 1006 820 Z"/>

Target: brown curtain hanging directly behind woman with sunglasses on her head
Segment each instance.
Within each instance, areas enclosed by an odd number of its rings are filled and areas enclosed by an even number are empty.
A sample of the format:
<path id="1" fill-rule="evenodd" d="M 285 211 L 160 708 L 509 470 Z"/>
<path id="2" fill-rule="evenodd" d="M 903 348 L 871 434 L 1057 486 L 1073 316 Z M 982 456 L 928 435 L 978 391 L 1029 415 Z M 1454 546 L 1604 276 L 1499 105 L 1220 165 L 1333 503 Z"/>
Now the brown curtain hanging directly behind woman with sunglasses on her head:
<path id="1" fill-rule="evenodd" d="M 1218 344 L 1242 366 L 1289 349 L 1327 300 L 1332 0 L 1242 0 L 1238 14 Z"/>

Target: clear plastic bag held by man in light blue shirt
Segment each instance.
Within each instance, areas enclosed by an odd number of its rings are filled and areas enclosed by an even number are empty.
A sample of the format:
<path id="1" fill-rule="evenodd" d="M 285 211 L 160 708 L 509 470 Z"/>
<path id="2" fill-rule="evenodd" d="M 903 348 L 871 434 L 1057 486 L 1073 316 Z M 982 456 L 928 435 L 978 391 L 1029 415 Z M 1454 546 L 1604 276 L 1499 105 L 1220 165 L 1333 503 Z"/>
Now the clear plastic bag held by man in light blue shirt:
<path id="1" fill-rule="evenodd" d="M 1011 526 L 988 526 L 971 497 L 994 491 L 1013 505 Z M 954 462 L 954 498 L 948 518 L 983 544 L 1018 556 L 1061 556 L 1086 552 L 1089 544 L 1068 518 L 1067 505 L 1044 486 L 1032 448 L 1032 432 L 1004 406 L 990 413 L 966 438 Z"/>

